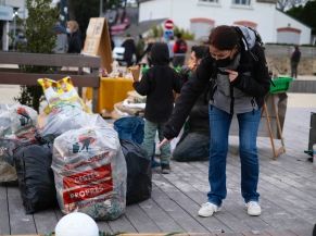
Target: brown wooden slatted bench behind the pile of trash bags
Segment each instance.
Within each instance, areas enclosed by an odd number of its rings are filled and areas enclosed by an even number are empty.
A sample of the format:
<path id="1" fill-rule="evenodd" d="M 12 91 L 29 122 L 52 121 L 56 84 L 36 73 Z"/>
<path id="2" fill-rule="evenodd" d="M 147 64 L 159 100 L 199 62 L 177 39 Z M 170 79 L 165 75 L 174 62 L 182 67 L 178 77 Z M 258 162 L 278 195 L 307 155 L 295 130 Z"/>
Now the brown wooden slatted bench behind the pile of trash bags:
<path id="1" fill-rule="evenodd" d="M 54 74 L 38 74 L 23 72 L 21 65 L 36 65 L 55 67 Z M 99 57 L 88 57 L 83 54 L 43 54 L 24 52 L 0 52 L 0 84 L 7 85 L 38 85 L 38 78 L 61 79 L 67 75 L 79 89 L 81 96 L 83 87 L 91 87 L 92 111 L 97 111 L 98 89 L 100 87 L 99 67 L 101 59 Z M 62 67 L 75 67 L 76 71 L 62 71 Z M 85 73 L 84 69 L 90 73 Z"/>

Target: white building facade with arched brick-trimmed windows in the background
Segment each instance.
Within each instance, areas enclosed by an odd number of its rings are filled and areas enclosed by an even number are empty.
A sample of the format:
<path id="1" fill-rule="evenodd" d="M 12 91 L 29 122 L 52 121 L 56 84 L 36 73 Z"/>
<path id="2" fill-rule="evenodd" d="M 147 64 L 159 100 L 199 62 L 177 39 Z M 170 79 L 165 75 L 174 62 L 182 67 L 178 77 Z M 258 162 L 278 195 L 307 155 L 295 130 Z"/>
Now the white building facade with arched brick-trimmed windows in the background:
<path id="1" fill-rule="evenodd" d="M 195 39 L 217 25 L 244 25 L 258 30 L 264 42 L 311 44 L 311 28 L 276 9 L 275 0 L 140 0 L 139 22 L 172 18 Z"/>

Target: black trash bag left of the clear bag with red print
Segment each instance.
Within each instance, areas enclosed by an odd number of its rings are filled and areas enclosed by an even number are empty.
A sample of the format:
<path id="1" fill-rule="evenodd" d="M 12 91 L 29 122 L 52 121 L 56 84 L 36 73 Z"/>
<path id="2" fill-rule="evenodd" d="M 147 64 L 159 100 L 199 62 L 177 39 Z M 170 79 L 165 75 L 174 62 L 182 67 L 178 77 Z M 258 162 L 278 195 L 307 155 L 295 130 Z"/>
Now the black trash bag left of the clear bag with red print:
<path id="1" fill-rule="evenodd" d="M 56 206 L 51 162 L 52 145 L 28 145 L 14 150 L 18 188 L 27 214 Z"/>

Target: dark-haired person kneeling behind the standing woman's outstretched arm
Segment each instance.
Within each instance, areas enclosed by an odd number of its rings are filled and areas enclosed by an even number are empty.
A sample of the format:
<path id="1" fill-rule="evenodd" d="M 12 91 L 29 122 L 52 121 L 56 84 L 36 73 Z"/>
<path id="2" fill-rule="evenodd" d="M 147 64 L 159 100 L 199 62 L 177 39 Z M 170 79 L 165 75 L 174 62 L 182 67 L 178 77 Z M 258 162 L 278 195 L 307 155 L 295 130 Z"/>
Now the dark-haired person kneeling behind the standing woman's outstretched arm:
<path id="1" fill-rule="evenodd" d="M 187 67 L 180 71 L 181 83 L 190 79 L 191 73 L 207 53 L 207 47 L 193 46 Z M 206 87 L 192 108 L 185 132 L 173 151 L 176 161 L 208 160 L 210 156 L 210 124 L 208 124 L 208 88 Z"/>

